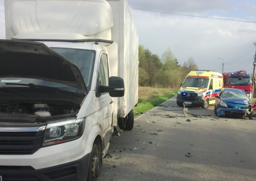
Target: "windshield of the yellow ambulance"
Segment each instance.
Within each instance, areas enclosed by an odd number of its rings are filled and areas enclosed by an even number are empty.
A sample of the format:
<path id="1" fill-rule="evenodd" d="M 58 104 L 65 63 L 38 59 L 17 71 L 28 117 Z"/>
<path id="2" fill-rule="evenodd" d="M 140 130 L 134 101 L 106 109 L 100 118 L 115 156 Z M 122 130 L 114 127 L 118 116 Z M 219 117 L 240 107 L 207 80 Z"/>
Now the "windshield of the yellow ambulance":
<path id="1" fill-rule="evenodd" d="M 190 78 L 187 77 L 182 84 L 182 87 L 192 87 L 192 88 L 207 88 L 209 79 L 206 78 Z"/>

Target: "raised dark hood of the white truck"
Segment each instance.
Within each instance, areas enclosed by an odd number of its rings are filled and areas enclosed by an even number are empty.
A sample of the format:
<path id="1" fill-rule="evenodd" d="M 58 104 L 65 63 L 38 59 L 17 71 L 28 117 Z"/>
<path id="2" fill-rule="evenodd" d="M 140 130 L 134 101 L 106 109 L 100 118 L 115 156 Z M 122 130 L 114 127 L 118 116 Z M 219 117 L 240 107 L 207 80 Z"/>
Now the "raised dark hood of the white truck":
<path id="1" fill-rule="evenodd" d="M 78 67 L 38 42 L 0 40 L 0 77 L 46 80 L 88 92 Z"/>

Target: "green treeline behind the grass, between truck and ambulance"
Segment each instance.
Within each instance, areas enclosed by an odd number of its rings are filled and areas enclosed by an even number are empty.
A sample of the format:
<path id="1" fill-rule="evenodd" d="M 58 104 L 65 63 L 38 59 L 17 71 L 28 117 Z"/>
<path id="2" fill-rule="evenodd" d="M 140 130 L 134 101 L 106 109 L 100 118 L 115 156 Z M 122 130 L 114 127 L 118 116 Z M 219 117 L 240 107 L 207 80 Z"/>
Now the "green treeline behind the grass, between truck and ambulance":
<path id="1" fill-rule="evenodd" d="M 178 88 L 192 70 L 197 70 L 192 57 L 182 65 L 167 48 L 160 58 L 144 46 L 139 46 L 139 86 L 155 88 Z"/>

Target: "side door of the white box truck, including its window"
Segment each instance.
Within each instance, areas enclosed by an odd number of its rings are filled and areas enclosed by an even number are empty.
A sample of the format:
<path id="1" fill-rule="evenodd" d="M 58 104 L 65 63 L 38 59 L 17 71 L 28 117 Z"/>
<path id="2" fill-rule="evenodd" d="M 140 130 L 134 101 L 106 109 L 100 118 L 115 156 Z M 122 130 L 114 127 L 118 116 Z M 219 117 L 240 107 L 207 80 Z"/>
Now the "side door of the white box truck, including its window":
<path id="1" fill-rule="evenodd" d="M 98 68 L 98 86 L 108 86 L 108 56 L 102 54 L 100 57 L 100 64 Z M 100 124 L 102 127 L 102 133 L 104 137 L 104 144 L 106 145 L 110 140 L 110 131 L 112 130 L 112 113 L 113 113 L 113 101 L 109 93 L 100 93 L 96 92 L 96 97 L 98 97 L 98 102 L 100 106 Z M 104 145 L 104 146 L 105 146 Z"/>

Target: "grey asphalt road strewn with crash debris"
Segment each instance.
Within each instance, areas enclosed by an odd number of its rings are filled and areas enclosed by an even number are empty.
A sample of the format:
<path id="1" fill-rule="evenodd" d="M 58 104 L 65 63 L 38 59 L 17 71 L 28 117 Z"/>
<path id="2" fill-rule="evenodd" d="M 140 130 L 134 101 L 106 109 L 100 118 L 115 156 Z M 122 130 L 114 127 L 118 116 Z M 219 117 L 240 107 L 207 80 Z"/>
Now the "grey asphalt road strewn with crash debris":
<path id="1" fill-rule="evenodd" d="M 112 135 L 98 181 L 256 181 L 256 120 L 213 109 L 185 117 L 174 97 L 136 118 Z"/>

